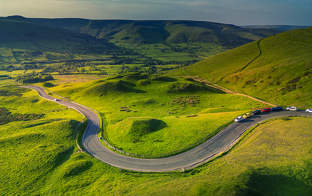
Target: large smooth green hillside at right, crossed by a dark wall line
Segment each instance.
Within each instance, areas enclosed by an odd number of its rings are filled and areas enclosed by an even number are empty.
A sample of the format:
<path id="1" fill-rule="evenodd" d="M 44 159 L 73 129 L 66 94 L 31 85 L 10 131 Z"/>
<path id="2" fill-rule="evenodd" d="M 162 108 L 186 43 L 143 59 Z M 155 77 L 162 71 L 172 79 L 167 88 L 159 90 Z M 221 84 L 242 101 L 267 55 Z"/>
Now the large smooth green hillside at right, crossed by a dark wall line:
<path id="1" fill-rule="evenodd" d="M 277 104 L 311 107 L 312 27 L 270 36 L 164 74 L 199 76 Z"/>

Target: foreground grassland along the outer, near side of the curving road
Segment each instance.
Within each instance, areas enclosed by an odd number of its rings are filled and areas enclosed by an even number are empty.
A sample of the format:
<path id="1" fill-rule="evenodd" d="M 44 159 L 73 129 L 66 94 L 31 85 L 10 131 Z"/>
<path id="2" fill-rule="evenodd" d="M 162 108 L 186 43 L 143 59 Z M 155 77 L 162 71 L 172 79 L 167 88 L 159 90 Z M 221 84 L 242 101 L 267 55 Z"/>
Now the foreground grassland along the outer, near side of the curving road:
<path id="1" fill-rule="evenodd" d="M 9 101 L 10 111 L 19 113 L 48 109 L 59 113 L 63 107 L 39 98 L 35 91 L 1 98 L 4 104 Z M 25 110 L 22 104 L 30 107 Z M 309 118 L 262 123 L 229 152 L 185 173 L 140 173 L 120 172 L 79 153 L 75 128 L 82 116 L 68 109 L 59 114 L 0 126 L 1 195 L 284 196 L 310 195 L 312 191 Z"/>

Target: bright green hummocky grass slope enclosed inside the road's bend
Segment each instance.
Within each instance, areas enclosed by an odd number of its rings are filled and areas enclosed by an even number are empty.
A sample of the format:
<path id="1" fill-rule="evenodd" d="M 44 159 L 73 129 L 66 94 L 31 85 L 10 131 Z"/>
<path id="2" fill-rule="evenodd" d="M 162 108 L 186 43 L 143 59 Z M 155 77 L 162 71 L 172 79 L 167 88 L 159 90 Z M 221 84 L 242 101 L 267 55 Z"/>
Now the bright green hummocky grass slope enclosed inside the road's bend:
<path id="1" fill-rule="evenodd" d="M 148 77 L 133 73 L 49 89 L 104 113 L 108 122 L 108 140 L 126 152 L 140 154 L 159 154 L 183 148 L 237 115 L 251 108 L 265 107 L 249 98 L 226 94 L 189 78 Z M 184 103 L 177 103 L 178 99 L 184 99 Z M 192 104 L 191 100 L 198 103 Z M 121 109 L 130 112 L 119 111 Z M 198 116 L 186 117 L 193 114 Z M 147 134 L 128 134 L 133 118 L 154 118 L 163 125 Z M 199 126 L 194 127 L 194 124 Z M 201 128 L 203 126 L 205 129 Z M 155 140 L 161 142 L 153 142 Z"/>

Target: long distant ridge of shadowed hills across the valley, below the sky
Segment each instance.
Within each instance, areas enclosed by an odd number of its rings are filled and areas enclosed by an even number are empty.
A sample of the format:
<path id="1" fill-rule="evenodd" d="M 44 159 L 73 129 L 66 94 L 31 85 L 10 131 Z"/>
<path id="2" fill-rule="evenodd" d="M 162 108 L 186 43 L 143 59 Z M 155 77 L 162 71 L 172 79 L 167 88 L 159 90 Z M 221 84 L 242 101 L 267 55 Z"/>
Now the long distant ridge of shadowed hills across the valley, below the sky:
<path id="1" fill-rule="evenodd" d="M 278 30 L 246 29 L 231 24 L 181 20 L 86 20 L 80 18 L 31 18 L 55 27 L 88 33 L 96 38 L 127 43 L 191 43 L 235 41 L 239 45 L 257 40 Z"/>

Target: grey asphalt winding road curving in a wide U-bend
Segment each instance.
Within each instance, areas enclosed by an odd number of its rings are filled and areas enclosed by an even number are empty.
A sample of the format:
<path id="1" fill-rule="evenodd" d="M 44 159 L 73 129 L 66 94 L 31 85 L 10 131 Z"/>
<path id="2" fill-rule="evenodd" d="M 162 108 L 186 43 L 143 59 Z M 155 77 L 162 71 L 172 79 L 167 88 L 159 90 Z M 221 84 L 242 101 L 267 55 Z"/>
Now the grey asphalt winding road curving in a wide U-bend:
<path id="1" fill-rule="evenodd" d="M 41 97 L 54 101 L 54 97 L 46 94 L 44 89 L 38 86 L 23 86 L 25 88 L 31 88 L 36 90 Z M 244 119 L 239 123 L 233 123 L 229 127 L 223 129 L 219 134 L 209 139 L 207 142 L 202 143 L 201 145 L 189 150 L 185 153 L 181 153 L 168 158 L 159 158 L 159 159 L 142 159 L 142 158 L 132 158 L 127 157 L 105 148 L 98 139 L 98 128 L 99 128 L 99 118 L 98 116 L 90 111 L 87 108 L 76 105 L 66 100 L 55 101 L 62 105 L 76 108 L 81 111 L 89 118 L 89 125 L 86 129 L 83 137 L 82 143 L 85 147 L 85 150 L 91 153 L 96 158 L 102 160 L 105 163 L 110 165 L 131 169 L 137 171 L 171 171 L 177 170 L 180 168 L 188 168 L 194 163 L 205 163 L 209 157 L 212 157 L 219 150 L 226 147 L 228 144 L 232 143 L 241 133 L 255 125 L 256 123 L 280 116 L 288 116 L 289 114 L 311 114 L 306 113 L 305 111 L 275 111 L 269 113 L 261 113 L 260 115 L 252 115 L 250 118 Z"/>

